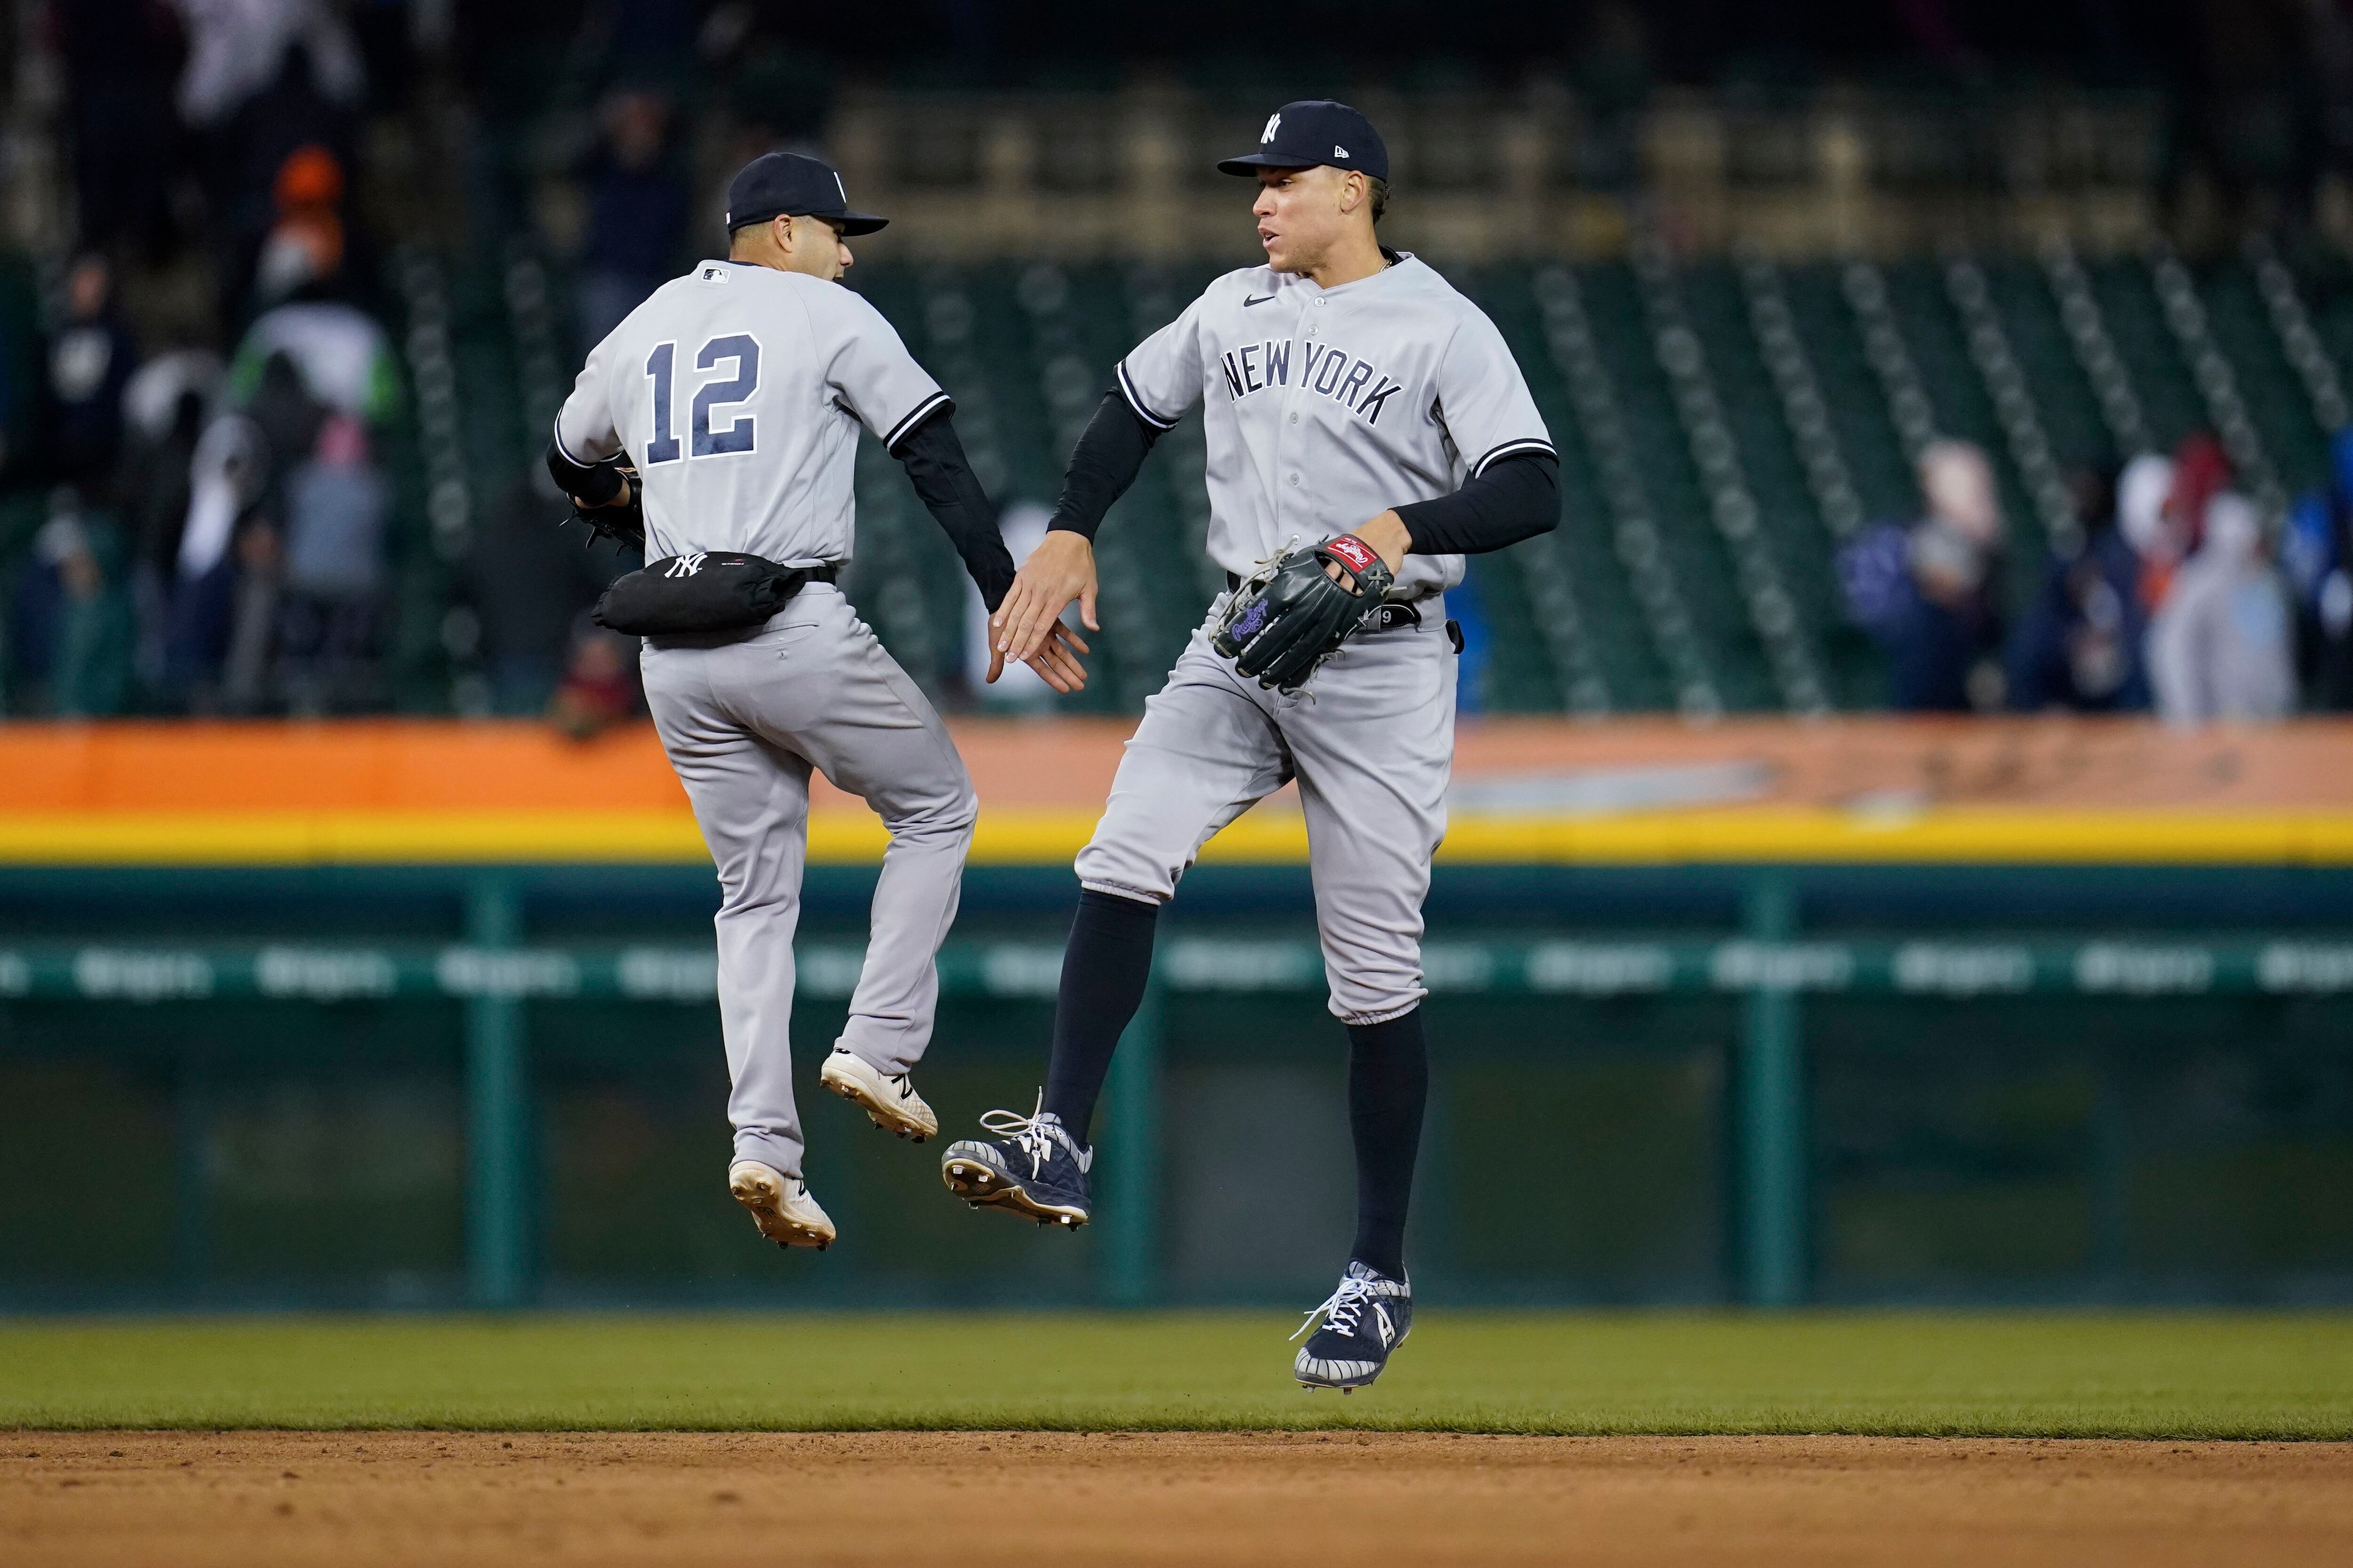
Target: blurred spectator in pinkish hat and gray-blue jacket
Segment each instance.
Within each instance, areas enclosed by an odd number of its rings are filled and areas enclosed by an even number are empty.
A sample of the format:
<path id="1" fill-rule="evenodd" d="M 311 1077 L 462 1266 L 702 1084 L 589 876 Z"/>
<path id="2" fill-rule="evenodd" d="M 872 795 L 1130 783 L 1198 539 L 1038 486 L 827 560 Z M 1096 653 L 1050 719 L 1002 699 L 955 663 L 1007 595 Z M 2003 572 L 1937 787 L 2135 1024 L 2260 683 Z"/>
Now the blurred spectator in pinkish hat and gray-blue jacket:
<path id="1" fill-rule="evenodd" d="M 367 428 L 329 414 L 311 458 L 285 482 L 285 632 L 280 658 L 294 712 L 362 698 L 384 590 L 384 475 Z"/>

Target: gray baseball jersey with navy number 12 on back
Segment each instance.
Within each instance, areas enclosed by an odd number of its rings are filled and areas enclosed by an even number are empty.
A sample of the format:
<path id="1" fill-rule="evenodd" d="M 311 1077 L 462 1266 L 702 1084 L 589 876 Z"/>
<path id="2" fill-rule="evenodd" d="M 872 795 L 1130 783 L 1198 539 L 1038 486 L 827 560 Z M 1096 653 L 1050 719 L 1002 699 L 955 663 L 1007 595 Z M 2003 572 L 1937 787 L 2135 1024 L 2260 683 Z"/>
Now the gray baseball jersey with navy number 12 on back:
<path id="1" fill-rule="evenodd" d="M 946 402 L 842 284 L 704 261 L 588 353 L 555 447 L 574 463 L 635 458 L 652 559 L 741 550 L 814 567 L 849 559 L 859 425 L 887 447 Z"/>

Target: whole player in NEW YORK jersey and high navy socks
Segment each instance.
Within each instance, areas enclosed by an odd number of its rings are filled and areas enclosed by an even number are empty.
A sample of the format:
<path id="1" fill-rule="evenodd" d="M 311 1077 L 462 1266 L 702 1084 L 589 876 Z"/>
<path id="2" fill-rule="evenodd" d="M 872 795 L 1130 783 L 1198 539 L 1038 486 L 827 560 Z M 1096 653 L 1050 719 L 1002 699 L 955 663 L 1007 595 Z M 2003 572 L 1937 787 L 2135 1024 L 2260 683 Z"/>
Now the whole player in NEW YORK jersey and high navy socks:
<path id="1" fill-rule="evenodd" d="M 941 1175 L 976 1206 L 1085 1225 L 1087 1124 L 1144 994 L 1160 905 L 1209 835 L 1297 780 L 1332 1013 L 1348 1025 L 1358 1232 L 1339 1288 L 1301 1326 L 1320 1324 L 1294 1373 L 1353 1389 L 1412 1324 L 1421 900 L 1445 835 L 1461 651 L 1442 595 L 1464 555 L 1555 524 L 1560 470 L 1494 324 L 1379 242 L 1388 153 L 1365 115 L 1285 103 L 1259 148 L 1219 169 L 1259 181 L 1266 266 L 1226 273 L 1120 362 L 1052 529 L 993 618 L 995 651 L 1045 646 L 1071 599 L 1092 611 L 1094 529 L 1195 400 L 1228 592 L 1146 703 L 1078 856 L 1038 1110 L 984 1117 L 995 1138 L 951 1145 Z"/>

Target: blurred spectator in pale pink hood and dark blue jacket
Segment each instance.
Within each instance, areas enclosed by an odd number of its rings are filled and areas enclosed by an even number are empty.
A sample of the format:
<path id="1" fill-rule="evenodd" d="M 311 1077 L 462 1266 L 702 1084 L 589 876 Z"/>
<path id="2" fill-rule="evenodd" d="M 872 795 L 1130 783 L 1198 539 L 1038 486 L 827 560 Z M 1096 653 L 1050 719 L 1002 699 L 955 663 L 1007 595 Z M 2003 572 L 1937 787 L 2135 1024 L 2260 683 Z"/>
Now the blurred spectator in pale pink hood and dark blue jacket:
<path id="1" fill-rule="evenodd" d="M 1920 522 L 1880 524 L 1840 552 L 1847 611 L 1887 649 L 1894 708 L 1998 708 L 2002 510 L 1993 465 L 1969 442 L 1929 442 L 1920 494 Z"/>

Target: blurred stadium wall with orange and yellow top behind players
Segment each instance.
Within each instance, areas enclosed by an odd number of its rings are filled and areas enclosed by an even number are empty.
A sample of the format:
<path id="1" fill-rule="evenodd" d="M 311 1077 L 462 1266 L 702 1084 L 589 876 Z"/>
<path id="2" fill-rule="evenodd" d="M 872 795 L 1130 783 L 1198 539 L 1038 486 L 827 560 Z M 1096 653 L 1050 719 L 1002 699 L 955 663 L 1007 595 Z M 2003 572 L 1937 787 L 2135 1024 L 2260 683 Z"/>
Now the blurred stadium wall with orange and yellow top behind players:
<path id="1" fill-rule="evenodd" d="M 1026 1107 L 1120 719 L 960 722 L 922 1070 Z M 2353 731 L 1468 722 L 1414 1267 L 1452 1302 L 2353 1295 Z M 713 879 L 645 729 L 0 731 L 0 1305 L 1287 1300 L 1351 1185 L 1304 830 L 1165 931 L 1101 1225 L 805 1093 L 845 1241 L 720 1182 Z M 800 1060 L 880 825 L 812 818 Z"/>

